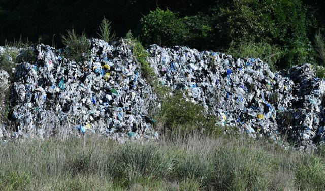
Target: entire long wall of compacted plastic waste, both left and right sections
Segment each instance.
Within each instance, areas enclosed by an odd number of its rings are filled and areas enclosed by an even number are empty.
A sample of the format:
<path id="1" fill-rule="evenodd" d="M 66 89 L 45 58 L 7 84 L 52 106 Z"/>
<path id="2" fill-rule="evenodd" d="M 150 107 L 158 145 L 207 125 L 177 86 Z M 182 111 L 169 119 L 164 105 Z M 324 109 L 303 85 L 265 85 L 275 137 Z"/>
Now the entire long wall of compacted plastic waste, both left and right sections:
<path id="1" fill-rule="evenodd" d="M 62 50 L 39 44 L 33 63 L 17 64 L 11 117 L 17 126 L 9 131 L 3 124 L 1 139 L 87 132 L 116 139 L 158 137 L 149 109 L 159 99 L 141 75 L 132 46 L 124 40 L 90 43 L 90 56 L 78 63 Z M 258 58 L 179 46 L 152 45 L 147 51 L 160 83 L 187 91 L 221 125 L 254 137 L 285 138 L 300 148 L 325 141 L 325 83 L 311 65 L 273 73 Z"/>

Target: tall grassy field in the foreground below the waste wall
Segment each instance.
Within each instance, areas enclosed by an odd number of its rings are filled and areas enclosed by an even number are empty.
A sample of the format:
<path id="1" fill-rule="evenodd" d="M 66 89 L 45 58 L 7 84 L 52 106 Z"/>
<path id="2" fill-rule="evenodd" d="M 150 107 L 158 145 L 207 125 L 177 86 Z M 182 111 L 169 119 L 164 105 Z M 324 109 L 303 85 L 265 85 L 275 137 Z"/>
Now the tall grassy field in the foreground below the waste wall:
<path id="1" fill-rule="evenodd" d="M 107 138 L 0 145 L 0 190 L 323 190 L 322 151 L 198 134 L 118 144 Z"/>

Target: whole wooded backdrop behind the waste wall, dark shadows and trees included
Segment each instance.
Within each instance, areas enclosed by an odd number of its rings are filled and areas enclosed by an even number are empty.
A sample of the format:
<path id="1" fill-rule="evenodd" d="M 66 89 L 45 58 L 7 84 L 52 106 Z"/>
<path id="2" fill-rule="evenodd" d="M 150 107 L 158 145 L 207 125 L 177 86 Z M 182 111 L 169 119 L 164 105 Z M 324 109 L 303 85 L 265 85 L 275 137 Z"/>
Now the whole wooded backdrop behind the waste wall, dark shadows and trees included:
<path id="1" fill-rule="evenodd" d="M 321 0 L 4 1 L 0 2 L 0 41 L 4 44 L 22 34 L 60 47 L 58 37 L 67 29 L 87 30 L 94 37 L 102 21 L 101 38 L 106 41 L 114 34 L 107 33 L 110 29 L 118 37 L 131 29 L 144 46 L 185 45 L 260 57 L 273 70 L 306 62 L 323 65 L 318 45 L 325 31 L 324 6 Z M 113 25 L 103 22 L 103 16 Z"/>

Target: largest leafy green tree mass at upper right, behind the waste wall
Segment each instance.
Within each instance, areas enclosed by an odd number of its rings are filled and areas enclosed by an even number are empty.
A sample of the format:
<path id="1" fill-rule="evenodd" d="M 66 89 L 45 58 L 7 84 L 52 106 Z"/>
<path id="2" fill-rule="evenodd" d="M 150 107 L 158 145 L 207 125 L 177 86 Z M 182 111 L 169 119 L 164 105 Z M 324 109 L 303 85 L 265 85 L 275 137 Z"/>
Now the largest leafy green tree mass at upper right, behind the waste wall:
<path id="1" fill-rule="evenodd" d="M 238 53 L 256 52 L 256 56 L 266 57 L 279 69 L 313 61 L 313 50 L 307 38 L 307 8 L 302 1 L 217 2 L 212 20 L 217 27 L 216 37 L 224 42 L 221 48 L 227 49 L 230 42 L 239 44 L 234 47 Z M 247 44 L 255 44 L 256 48 L 252 48 L 255 51 L 243 51 Z M 263 46 L 266 47 L 258 50 Z M 270 60 L 268 56 L 274 54 L 276 56 Z"/>

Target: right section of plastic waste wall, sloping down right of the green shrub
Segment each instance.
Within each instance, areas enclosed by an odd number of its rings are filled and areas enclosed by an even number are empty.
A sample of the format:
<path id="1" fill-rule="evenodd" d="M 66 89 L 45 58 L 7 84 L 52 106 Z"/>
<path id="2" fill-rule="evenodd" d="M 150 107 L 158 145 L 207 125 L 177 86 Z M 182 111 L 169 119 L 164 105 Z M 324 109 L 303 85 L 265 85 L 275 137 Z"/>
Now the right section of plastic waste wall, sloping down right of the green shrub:
<path id="1" fill-rule="evenodd" d="M 254 58 L 187 47 L 148 49 L 160 82 L 184 89 L 223 125 L 253 136 L 286 138 L 301 148 L 324 141 L 325 84 L 305 64 L 273 73 Z"/>

